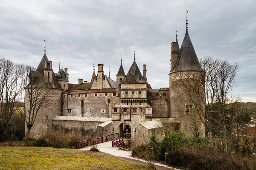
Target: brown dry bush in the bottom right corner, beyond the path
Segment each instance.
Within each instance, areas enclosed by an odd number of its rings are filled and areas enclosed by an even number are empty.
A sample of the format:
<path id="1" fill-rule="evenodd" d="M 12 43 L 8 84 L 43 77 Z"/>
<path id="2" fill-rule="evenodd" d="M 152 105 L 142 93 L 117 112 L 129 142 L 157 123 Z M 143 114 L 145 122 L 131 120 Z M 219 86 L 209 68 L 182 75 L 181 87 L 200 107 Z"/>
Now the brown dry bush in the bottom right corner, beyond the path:
<path id="1" fill-rule="evenodd" d="M 255 158 L 242 159 L 239 154 L 220 153 L 214 146 L 188 145 L 175 148 L 168 156 L 168 164 L 190 170 L 255 170 Z"/>

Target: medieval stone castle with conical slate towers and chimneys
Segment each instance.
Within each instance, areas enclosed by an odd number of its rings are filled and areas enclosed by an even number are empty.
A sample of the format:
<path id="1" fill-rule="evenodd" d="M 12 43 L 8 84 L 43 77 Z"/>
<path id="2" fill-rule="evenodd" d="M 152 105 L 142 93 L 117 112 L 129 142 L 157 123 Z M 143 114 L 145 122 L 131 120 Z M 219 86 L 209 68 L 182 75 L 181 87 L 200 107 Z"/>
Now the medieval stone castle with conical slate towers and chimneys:
<path id="1" fill-rule="evenodd" d="M 204 97 L 201 97 L 204 96 L 204 71 L 187 27 L 180 48 L 176 34 L 170 61 L 169 87 L 166 88 L 151 88 L 146 65 L 142 74 L 135 54 L 127 74 L 121 60 L 115 80 L 104 74 L 103 64 L 98 64 L 97 75 L 93 65 L 90 82 L 78 79 L 77 84 L 70 84 L 68 69 L 54 73 L 44 51 L 38 68 L 31 71 L 29 78 L 32 84 L 44 82 L 43 88 L 51 91 L 51 104 L 39 109 L 31 129 L 32 137 L 37 137 L 40 128 L 57 127 L 66 132 L 79 130 L 85 138 L 119 133 L 130 137 L 135 145 L 148 142 L 153 133 L 163 139 L 174 130 L 183 131 L 189 137 L 195 132 L 204 136 L 204 119 L 200 116 L 205 108 Z M 188 88 L 189 84 L 197 91 L 192 91 L 191 86 Z M 29 100 L 27 96 L 26 100 Z"/>

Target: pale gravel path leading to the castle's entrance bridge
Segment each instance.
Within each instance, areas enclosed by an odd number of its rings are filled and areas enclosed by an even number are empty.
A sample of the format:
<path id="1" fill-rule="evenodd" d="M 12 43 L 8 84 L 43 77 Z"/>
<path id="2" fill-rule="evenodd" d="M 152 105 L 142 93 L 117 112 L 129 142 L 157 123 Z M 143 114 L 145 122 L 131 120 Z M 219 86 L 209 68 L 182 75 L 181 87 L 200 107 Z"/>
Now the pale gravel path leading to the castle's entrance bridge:
<path id="1" fill-rule="evenodd" d="M 143 159 L 137 159 L 134 157 L 131 157 L 131 151 L 125 151 L 125 150 L 118 150 L 118 147 L 112 147 L 112 142 L 104 142 L 97 145 L 99 151 L 109 153 L 113 156 L 117 156 L 121 159 L 125 159 L 128 161 L 134 161 L 140 164 L 148 165 L 148 163 Z M 81 150 L 90 150 L 91 146 L 83 147 Z M 180 170 L 174 167 L 169 167 L 165 164 L 160 164 L 155 162 L 155 165 L 157 167 L 157 170 Z"/>

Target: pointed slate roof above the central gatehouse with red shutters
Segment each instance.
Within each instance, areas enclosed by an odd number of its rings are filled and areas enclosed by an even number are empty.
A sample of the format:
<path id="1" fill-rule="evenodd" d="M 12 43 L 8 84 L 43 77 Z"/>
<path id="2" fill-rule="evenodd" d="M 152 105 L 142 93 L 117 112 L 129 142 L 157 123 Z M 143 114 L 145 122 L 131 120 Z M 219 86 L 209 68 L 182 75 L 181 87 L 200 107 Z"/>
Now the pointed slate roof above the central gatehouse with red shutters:
<path id="1" fill-rule="evenodd" d="M 140 69 L 136 64 L 135 59 L 123 82 L 146 82 L 140 73 Z"/>

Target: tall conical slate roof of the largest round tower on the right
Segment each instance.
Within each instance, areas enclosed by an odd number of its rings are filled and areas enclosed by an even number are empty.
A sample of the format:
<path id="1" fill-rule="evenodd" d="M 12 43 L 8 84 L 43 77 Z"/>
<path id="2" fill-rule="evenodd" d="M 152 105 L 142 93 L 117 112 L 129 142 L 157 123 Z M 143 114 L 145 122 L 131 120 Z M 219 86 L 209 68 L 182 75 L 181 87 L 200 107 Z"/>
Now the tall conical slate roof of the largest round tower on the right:
<path id="1" fill-rule="evenodd" d="M 184 40 L 180 47 L 177 65 L 172 72 L 175 71 L 203 71 L 190 40 L 188 31 L 186 31 Z"/>

